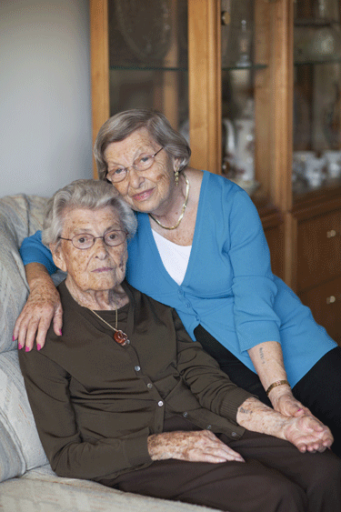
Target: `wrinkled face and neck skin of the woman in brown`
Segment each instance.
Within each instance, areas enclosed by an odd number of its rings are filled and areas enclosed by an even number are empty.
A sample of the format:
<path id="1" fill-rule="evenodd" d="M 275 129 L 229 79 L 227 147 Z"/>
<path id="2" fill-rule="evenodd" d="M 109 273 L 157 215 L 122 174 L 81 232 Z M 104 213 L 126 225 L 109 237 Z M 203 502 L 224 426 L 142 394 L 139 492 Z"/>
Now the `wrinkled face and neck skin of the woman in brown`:
<path id="1" fill-rule="evenodd" d="M 123 229 L 114 208 L 77 208 L 67 211 L 62 236 L 104 236 L 113 229 Z M 121 283 L 125 278 L 126 242 L 110 247 L 97 239 L 94 246 L 80 250 L 72 242 L 61 240 L 59 246 L 51 248 L 55 264 L 67 272 L 66 286 L 79 304 L 92 309 L 111 308 L 110 305 L 117 305 L 117 300 L 120 304 L 119 299 L 125 296 Z"/>

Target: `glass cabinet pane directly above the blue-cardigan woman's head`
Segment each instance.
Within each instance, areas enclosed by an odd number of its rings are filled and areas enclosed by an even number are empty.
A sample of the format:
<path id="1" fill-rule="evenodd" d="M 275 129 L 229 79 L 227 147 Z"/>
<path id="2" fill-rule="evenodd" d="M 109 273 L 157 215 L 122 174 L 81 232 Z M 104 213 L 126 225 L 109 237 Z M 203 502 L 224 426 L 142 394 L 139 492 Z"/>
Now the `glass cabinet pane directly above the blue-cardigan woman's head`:
<path id="1" fill-rule="evenodd" d="M 188 134 L 186 0 L 108 0 L 110 115 L 155 108 Z"/>

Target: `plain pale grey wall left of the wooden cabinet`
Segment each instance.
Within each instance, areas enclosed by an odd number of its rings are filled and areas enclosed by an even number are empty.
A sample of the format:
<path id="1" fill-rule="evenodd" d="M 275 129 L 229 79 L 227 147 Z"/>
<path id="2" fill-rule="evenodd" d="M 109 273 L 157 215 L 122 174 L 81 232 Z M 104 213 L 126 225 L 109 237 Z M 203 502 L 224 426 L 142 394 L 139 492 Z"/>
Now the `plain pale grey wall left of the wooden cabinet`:
<path id="1" fill-rule="evenodd" d="M 0 0 L 0 196 L 92 177 L 88 0 Z"/>

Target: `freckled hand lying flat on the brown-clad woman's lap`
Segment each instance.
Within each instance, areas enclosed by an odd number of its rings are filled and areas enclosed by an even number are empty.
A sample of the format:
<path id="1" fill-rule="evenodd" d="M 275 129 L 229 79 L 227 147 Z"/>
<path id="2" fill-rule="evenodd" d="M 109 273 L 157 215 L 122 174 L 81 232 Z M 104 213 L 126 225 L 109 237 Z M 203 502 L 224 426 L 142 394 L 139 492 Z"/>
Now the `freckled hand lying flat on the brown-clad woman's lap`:
<path id="1" fill-rule="evenodd" d="M 245 462 L 243 457 L 227 447 L 209 430 L 155 434 L 148 437 L 148 451 L 152 460 L 177 458 L 214 464 L 232 460 Z"/>

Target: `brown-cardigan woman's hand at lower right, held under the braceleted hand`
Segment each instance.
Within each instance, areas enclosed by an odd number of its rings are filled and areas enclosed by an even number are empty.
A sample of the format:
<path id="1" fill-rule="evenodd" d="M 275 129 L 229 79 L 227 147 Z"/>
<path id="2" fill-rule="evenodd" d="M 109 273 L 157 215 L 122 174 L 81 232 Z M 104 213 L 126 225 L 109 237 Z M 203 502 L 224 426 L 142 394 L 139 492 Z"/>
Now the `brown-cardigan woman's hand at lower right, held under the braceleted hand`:
<path id="1" fill-rule="evenodd" d="M 302 453 L 324 452 L 332 446 L 334 438 L 329 428 L 315 417 L 302 416 L 287 419 L 284 437 Z"/>

